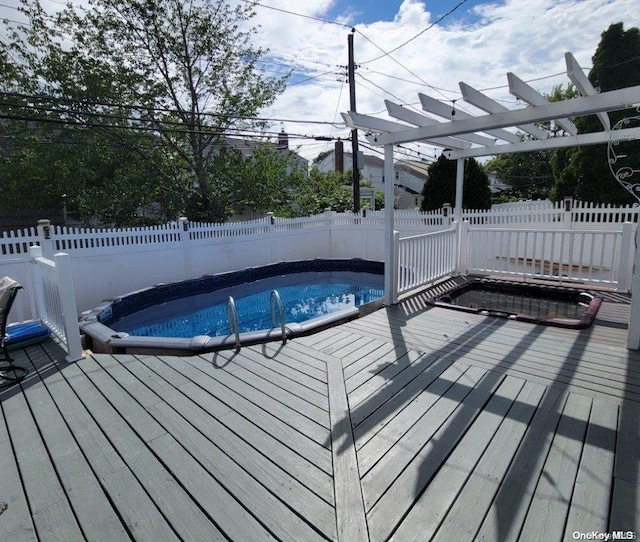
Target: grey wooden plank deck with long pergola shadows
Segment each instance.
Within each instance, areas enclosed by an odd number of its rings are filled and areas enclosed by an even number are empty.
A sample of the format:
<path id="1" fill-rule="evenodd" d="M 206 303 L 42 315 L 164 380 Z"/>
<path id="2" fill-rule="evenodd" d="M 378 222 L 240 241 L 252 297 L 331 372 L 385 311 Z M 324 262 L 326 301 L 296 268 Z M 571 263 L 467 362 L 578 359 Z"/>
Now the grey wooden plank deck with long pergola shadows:
<path id="1" fill-rule="evenodd" d="M 573 540 L 640 529 L 629 299 L 575 331 L 421 296 L 195 357 L 16 352 L 0 540 Z"/>

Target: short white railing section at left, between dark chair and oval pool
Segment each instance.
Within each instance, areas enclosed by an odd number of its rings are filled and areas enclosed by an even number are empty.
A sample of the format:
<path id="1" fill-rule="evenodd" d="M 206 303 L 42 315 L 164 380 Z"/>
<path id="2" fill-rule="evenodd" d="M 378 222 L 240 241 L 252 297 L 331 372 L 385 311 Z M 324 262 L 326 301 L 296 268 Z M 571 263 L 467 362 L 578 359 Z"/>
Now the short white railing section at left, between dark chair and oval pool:
<path id="1" fill-rule="evenodd" d="M 31 247 L 30 254 L 33 261 L 33 287 L 38 318 L 65 345 L 67 361 L 82 359 L 78 311 L 69 256 L 58 253 L 53 261 L 48 260 L 42 257 L 42 249 L 39 246 Z"/>

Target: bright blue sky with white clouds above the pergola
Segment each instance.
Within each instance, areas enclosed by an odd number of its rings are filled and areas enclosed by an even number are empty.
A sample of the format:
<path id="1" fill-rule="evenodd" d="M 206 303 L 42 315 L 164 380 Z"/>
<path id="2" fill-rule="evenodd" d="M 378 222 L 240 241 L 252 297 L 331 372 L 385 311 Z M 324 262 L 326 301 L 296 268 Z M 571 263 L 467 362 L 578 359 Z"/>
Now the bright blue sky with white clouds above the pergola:
<path id="1" fill-rule="evenodd" d="M 41 1 L 49 10 L 62 5 Z M 17 4 L 3 0 L 0 17 L 19 18 L 11 8 Z M 255 12 L 254 43 L 269 50 L 262 68 L 273 76 L 291 72 L 261 116 L 271 119 L 271 130 L 290 134 L 290 147 L 309 160 L 333 148 L 325 138 L 350 137 L 340 113 L 350 109 L 352 29 L 356 110 L 388 119 L 384 100 L 420 111 L 418 93 L 479 114 L 462 101 L 460 81 L 506 107 L 523 107 L 508 92 L 507 72 L 550 92 L 569 83 L 565 52 L 588 73 L 609 25 L 640 27 L 637 0 L 259 0 Z M 359 140 L 365 153 L 377 154 L 362 132 Z M 431 160 L 439 149 L 408 145 L 401 152 Z"/>

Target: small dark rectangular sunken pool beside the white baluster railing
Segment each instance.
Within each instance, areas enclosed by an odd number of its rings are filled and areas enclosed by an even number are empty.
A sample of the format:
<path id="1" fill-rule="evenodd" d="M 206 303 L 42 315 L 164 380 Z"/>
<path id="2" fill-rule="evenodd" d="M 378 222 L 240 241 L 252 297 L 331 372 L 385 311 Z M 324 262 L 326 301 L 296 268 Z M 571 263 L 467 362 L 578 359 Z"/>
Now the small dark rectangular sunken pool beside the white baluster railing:
<path id="1" fill-rule="evenodd" d="M 577 288 L 468 278 L 428 301 L 449 309 L 582 329 L 593 323 L 602 296 Z"/>

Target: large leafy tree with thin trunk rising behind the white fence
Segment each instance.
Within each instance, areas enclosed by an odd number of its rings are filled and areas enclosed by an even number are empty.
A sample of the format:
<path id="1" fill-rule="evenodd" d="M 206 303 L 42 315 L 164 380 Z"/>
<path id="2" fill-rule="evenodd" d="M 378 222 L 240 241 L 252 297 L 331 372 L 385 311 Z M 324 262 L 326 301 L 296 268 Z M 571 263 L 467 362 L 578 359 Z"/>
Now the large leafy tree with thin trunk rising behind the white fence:
<path id="1" fill-rule="evenodd" d="M 152 162 L 159 190 L 179 195 L 190 218 L 223 218 L 220 169 L 231 167 L 217 150 L 229 133 L 264 128 L 255 117 L 286 80 L 258 68 L 267 51 L 250 42 L 255 3 L 94 0 L 49 15 L 21 2 L 29 26 L 8 29 L 0 54 L 5 116 L 100 132 Z"/>

